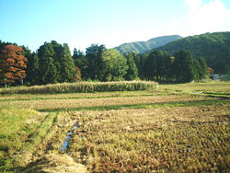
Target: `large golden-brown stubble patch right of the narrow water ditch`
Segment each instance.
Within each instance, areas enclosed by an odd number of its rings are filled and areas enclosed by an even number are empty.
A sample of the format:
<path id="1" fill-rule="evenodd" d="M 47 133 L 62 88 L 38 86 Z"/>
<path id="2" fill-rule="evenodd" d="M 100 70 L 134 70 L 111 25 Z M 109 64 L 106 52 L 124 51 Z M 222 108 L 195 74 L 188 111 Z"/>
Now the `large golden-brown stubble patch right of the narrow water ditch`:
<path id="1" fill-rule="evenodd" d="M 230 106 L 79 113 L 71 155 L 90 172 L 230 169 Z"/>

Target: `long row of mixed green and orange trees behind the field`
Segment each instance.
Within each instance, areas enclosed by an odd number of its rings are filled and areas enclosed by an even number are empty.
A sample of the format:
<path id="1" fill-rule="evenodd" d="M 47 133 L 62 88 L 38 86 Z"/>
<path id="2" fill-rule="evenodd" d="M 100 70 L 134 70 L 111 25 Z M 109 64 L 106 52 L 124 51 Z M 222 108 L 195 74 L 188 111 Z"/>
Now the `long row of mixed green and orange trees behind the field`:
<path id="1" fill-rule="evenodd" d="M 76 81 L 154 80 L 190 82 L 207 76 L 204 58 L 193 59 L 186 50 L 122 55 L 116 49 L 92 44 L 86 52 L 67 44 L 45 42 L 36 52 L 0 41 L 1 85 L 44 85 Z"/>

